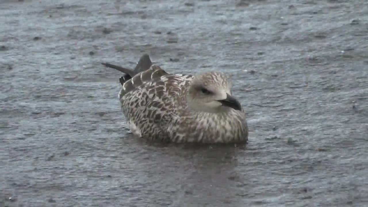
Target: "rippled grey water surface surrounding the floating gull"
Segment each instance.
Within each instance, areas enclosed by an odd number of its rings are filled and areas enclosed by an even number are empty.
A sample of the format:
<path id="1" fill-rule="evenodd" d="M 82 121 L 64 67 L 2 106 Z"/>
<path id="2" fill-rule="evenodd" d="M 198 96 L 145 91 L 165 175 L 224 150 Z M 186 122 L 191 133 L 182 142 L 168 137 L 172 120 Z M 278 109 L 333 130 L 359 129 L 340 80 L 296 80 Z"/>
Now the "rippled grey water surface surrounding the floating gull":
<path id="1" fill-rule="evenodd" d="M 231 76 L 247 146 L 149 143 L 121 73 Z M 0 207 L 367 206 L 368 1 L 1 0 Z"/>

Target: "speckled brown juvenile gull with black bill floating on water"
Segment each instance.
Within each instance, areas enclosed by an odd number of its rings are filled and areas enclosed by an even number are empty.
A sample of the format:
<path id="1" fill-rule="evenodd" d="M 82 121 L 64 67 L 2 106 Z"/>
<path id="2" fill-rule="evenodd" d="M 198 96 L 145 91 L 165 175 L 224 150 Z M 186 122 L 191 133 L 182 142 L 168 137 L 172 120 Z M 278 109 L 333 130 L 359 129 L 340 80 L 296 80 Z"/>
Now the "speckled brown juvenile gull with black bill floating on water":
<path id="1" fill-rule="evenodd" d="M 169 74 L 144 54 L 119 79 L 121 109 L 133 134 L 176 143 L 247 143 L 248 125 L 231 82 L 220 72 Z"/>

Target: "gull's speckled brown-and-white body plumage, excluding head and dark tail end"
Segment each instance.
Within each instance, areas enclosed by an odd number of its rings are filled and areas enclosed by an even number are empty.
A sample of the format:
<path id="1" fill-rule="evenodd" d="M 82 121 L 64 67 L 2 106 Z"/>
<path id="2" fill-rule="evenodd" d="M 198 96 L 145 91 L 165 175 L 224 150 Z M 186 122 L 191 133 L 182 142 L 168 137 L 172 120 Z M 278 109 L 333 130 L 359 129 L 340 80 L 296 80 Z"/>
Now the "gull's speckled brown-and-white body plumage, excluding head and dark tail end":
<path id="1" fill-rule="evenodd" d="M 193 78 L 152 65 L 130 80 L 123 79 L 119 99 L 131 131 L 149 140 L 177 143 L 247 142 L 243 109 L 208 113 L 188 108 L 186 95 Z"/>

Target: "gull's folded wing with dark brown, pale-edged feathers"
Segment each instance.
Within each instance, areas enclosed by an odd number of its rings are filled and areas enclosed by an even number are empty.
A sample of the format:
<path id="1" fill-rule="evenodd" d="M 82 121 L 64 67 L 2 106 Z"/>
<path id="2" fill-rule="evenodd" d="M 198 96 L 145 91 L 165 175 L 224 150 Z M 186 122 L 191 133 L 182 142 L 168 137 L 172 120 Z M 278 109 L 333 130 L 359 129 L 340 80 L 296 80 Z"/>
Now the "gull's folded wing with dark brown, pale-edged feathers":
<path id="1" fill-rule="evenodd" d="M 183 105 L 183 86 L 191 75 L 168 74 L 159 66 L 136 74 L 123 84 L 119 99 L 124 116 L 142 137 L 169 139 L 168 124 Z"/>

